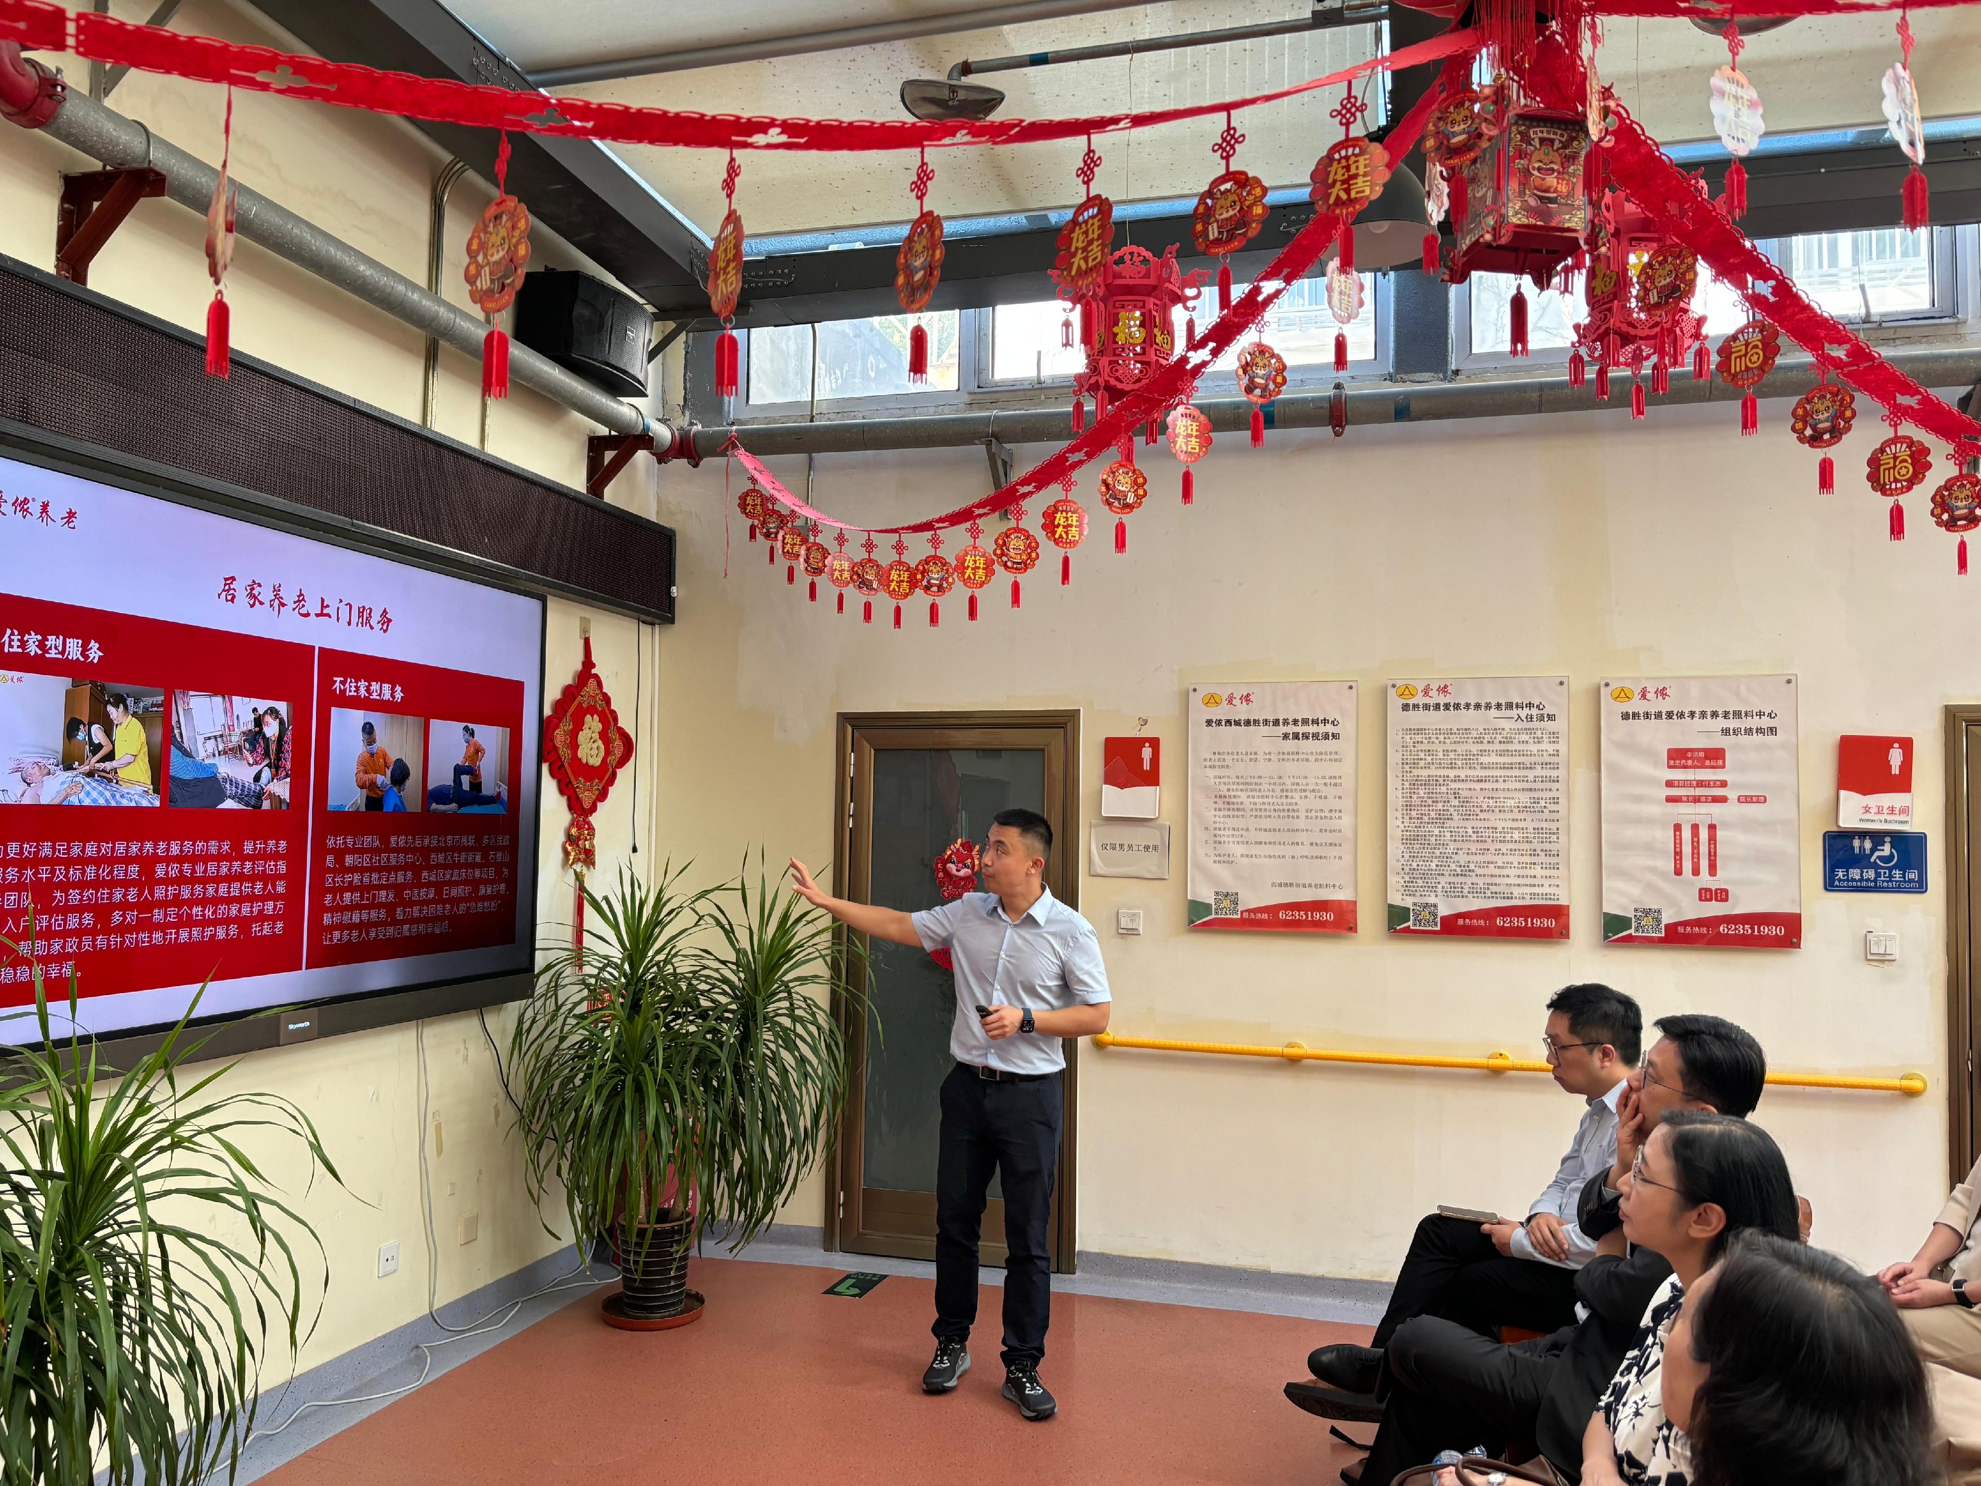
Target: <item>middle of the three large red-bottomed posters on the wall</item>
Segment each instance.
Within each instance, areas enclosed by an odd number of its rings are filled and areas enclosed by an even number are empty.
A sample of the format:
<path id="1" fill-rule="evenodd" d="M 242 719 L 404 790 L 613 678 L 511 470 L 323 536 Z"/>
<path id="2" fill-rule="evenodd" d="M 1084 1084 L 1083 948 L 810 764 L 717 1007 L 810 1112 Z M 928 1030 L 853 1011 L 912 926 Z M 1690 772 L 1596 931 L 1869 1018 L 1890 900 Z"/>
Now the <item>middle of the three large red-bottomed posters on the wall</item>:
<path id="1" fill-rule="evenodd" d="M 1569 682 L 1389 684 L 1389 931 L 1569 935 Z"/>

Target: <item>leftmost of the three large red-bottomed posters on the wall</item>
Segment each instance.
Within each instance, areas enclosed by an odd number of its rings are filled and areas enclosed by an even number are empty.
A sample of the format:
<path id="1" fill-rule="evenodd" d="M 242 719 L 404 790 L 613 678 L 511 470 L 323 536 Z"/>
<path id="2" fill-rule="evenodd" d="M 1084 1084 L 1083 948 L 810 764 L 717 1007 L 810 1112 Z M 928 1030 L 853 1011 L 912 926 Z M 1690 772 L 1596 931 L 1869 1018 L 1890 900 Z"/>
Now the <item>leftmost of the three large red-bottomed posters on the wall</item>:
<path id="1" fill-rule="evenodd" d="M 1193 686 L 1193 929 L 1355 933 L 1355 682 Z"/>

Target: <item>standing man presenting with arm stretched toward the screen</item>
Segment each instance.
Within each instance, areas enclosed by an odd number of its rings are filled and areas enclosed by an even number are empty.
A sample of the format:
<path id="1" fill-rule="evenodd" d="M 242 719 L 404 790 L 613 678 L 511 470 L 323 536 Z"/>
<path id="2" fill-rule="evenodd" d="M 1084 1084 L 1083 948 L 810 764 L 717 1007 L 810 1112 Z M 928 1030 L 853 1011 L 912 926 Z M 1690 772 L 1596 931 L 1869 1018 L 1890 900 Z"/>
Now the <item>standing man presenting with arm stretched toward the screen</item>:
<path id="1" fill-rule="evenodd" d="M 828 896 L 792 860 L 794 890 L 858 933 L 947 949 L 957 977 L 935 1169 L 935 1361 L 923 1393 L 949 1393 L 971 1369 L 977 1242 L 990 1175 L 1004 1191 L 1004 1397 L 1026 1419 L 1058 1403 L 1038 1381 L 1052 1318 L 1052 1181 L 1060 1159 L 1062 1038 L 1107 1030 L 1107 969 L 1094 925 L 1046 888 L 1052 826 L 1036 810 L 990 820 L 987 892 L 901 913 Z"/>

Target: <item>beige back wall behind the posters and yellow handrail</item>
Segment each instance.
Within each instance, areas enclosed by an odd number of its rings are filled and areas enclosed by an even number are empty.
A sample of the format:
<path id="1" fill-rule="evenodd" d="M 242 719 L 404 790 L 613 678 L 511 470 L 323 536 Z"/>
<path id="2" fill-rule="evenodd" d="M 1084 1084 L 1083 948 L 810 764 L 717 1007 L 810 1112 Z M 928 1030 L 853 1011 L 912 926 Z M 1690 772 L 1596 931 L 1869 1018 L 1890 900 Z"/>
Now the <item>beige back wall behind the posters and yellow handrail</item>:
<path id="1" fill-rule="evenodd" d="M 1890 1262 L 1916 1248 L 1945 1189 L 1939 705 L 1981 693 L 1981 660 L 1949 644 L 1971 624 L 1975 581 L 1955 579 L 1951 539 L 1924 501 L 1912 501 L 1914 537 L 1886 541 L 1880 501 L 1850 478 L 1860 446 L 1838 458 L 1840 493 L 1817 497 L 1815 456 L 1791 440 L 1787 404 L 1765 404 L 1761 422 L 1749 440 L 1731 406 L 1654 410 L 1640 424 L 1618 410 L 1355 428 L 1339 442 L 1276 430 L 1260 452 L 1220 434 L 1191 509 L 1175 464 L 1147 450 L 1153 495 L 1129 523 L 1127 557 L 1111 551 L 1111 521 L 1095 521 L 1070 588 L 1042 565 L 1016 614 L 998 583 L 975 626 L 951 598 L 929 630 L 923 600 L 901 632 L 886 604 L 874 628 L 806 604 L 741 521 L 725 533 L 723 470 L 670 466 L 662 519 L 681 531 L 681 622 L 662 688 L 695 715 L 662 739 L 670 785 L 693 781 L 670 796 L 668 846 L 721 862 L 741 836 L 773 856 L 826 858 L 840 709 L 1082 707 L 1088 818 L 1101 737 L 1149 717 L 1169 759 L 1175 876 L 1082 880 L 1117 1032 L 1537 1058 L 1547 993 L 1603 979 L 1650 1016 L 1739 1020 L 1779 1068 L 1920 1070 L 1931 1080 L 1920 1100 L 1771 1090 L 1761 1106 L 1821 1240 Z M 1018 450 L 1020 468 L 1044 452 Z M 802 487 L 802 460 L 773 464 Z M 820 505 L 874 523 L 983 489 L 975 448 L 834 456 L 816 470 Z M 1082 499 L 1097 511 L 1092 491 L 1088 476 Z M 1611 672 L 1801 674 L 1803 949 L 1601 945 L 1595 682 Z M 1422 674 L 1573 678 L 1567 943 L 1391 943 L 1375 927 L 1385 804 L 1373 684 Z M 1351 939 L 1183 929 L 1183 690 L 1274 678 L 1365 682 L 1367 927 Z M 1817 890 L 1842 731 L 1918 737 L 1931 896 Z M 1084 854 L 1084 832 L 1066 836 Z M 1143 937 L 1113 933 L 1115 907 L 1145 909 Z M 1902 935 L 1896 969 L 1864 963 L 1874 919 Z M 1309 1274 L 1393 1274 L 1438 1201 L 1525 1211 L 1579 1115 L 1531 1076 L 1092 1046 L 1080 1076 L 1082 1248 Z M 820 1222 L 822 1205 L 814 1183 L 788 1219 Z"/>

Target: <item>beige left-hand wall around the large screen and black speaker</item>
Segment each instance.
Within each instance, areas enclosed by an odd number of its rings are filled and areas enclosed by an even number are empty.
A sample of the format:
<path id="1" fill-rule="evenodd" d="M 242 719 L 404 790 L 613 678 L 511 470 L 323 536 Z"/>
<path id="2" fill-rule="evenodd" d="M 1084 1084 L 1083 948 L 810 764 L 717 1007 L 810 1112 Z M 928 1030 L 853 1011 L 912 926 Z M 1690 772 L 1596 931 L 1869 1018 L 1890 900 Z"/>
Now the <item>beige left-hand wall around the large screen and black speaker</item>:
<path id="1" fill-rule="evenodd" d="M 143 20 L 149 0 L 115 0 L 113 12 Z M 299 50 L 244 6 L 192 0 L 174 28 Z M 65 59 L 63 71 L 87 85 L 87 65 Z M 160 137 L 206 159 L 220 159 L 224 93 L 131 73 L 111 97 L 121 113 L 141 119 Z M 349 109 L 293 103 L 240 93 L 234 101 L 234 174 L 301 212 L 325 230 L 357 244 L 416 281 L 426 277 L 428 188 L 444 155 L 402 123 Z M 44 135 L 0 125 L 0 252 L 38 267 L 53 265 L 55 200 L 63 170 L 97 164 Z M 456 186 L 442 293 L 466 305 L 462 244 L 491 190 L 477 176 Z M 123 299 L 178 325 L 204 329 L 204 220 L 166 200 L 141 202 L 91 265 L 91 289 Z M 586 267 L 586 260 L 541 226 L 533 234 L 539 264 Z M 594 269 L 596 271 L 596 269 Z M 240 242 L 228 275 L 234 307 L 234 349 L 263 357 L 339 392 L 404 418 L 420 416 L 422 339 L 398 321 L 359 303 L 250 242 Z M 473 444 L 479 436 L 479 367 L 442 353 L 438 428 Z M 596 432 L 576 414 L 517 386 L 507 402 L 491 404 L 487 448 L 535 474 L 565 483 L 582 481 L 584 436 Z M 614 499 L 652 513 L 652 464 L 642 462 L 614 485 Z M 634 723 L 634 624 L 624 618 L 553 600 L 545 686 L 557 688 L 576 670 L 578 628 L 590 622 L 592 654 L 606 688 L 638 735 L 640 810 L 658 796 L 648 729 Z M 642 654 L 654 664 L 654 630 Z M 652 676 L 642 699 L 648 717 L 656 695 Z M 614 872 L 630 858 L 632 781 L 622 779 L 598 814 L 598 858 Z M 640 840 L 648 840 L 642 820 Z M 571 915 L 571 876 L 559 842 L 565 812 L 551 793 L 543 812 L 539 917 L 547 935 Z M 491 1012 L 489 1026 L 507 1050 L 509 1012 Z M 475 1018 L 448 1016 L 426 1024 L 430 1114 L 440 1121 L 438 1153 L 426 1129 L 434 1181 L 434 1228 L 440 1262 L 434 1276 L 442 1302 L 515 1272 L 555 1250 L 523 1195 L 521 1147 L 507 1133 L 509 1112 Z M 295 1100 L 317 1121 L 345 1177 L 345 1189 L 319 1181 L 307 1195 L 301 1167 L 277 1161 L 289 1195 L 323 1236 L 331 1264 L 331 1294 L 323 1320 L 303 1349 L 303 1365 L 333 1357 L 390 1331 L 426 1310 L 428 1260 L 420 1207 L 420 1052 L 414 1026 L 394 1026 L 321 1044 L 260 1052 L 242 1062 L 228 1088 L 265 1090 Z M 479 1236 L 460 1244 L 462 1219 L 479 1219 Z M 553 1224 L 561 1217 L 553 1213 Z M 378 1244 L 400 1242 L 400 1272 L 378 1280 Z M 271 1359 L 265 1383 L 281 1381 L 287 1359 Z"/>

